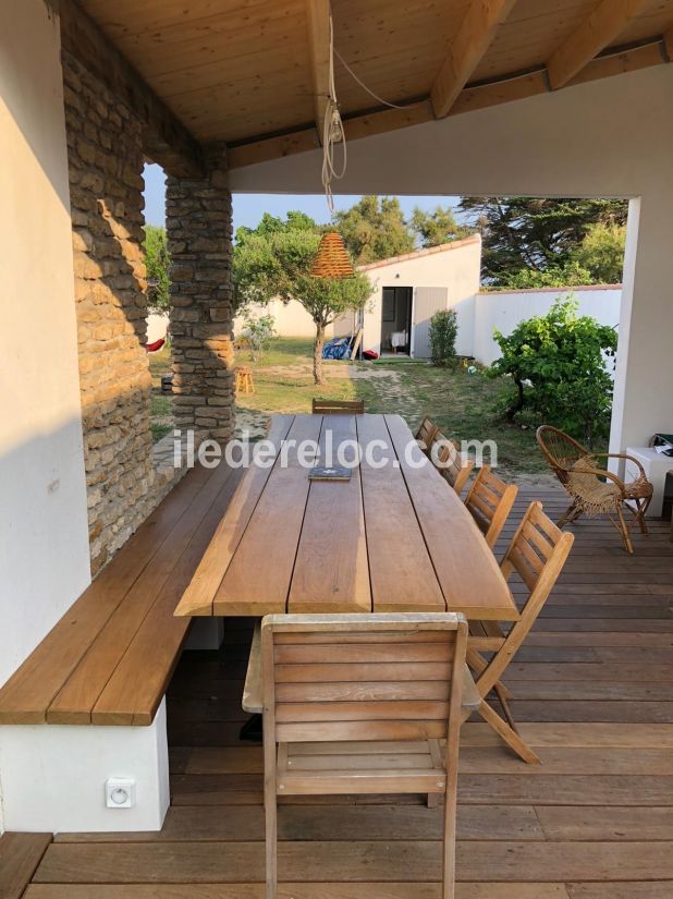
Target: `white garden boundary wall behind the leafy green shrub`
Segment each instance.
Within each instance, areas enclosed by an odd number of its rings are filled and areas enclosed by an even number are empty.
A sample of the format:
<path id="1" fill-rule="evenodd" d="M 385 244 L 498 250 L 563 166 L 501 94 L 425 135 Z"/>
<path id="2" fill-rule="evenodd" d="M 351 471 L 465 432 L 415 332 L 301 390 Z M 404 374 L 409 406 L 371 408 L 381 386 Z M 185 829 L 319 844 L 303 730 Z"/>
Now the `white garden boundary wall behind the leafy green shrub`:
<path id="1" fill-rule="evenodd" d="M 468 355 L 474 355 L 482 365 L 491 365 L 500 356 L 500 349 L 493 340 L 495 328 L 509 336 L 519 321 L 534 315 L 546 315 L 556 297 L 568 294 L 573 294 L 578 301 L 578 315 L 590 315 L 601 325 L 609 325 L 611 328 L 620 324 L 621 287 L 546 288 L 479 293 L 475 297 L 475 340 L 473 352 Z"/>

